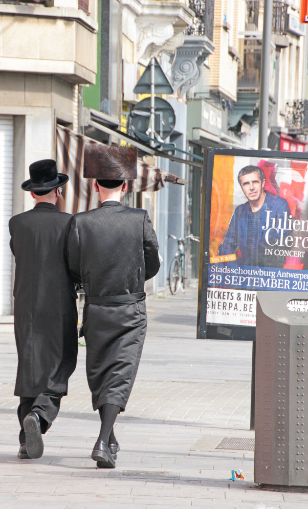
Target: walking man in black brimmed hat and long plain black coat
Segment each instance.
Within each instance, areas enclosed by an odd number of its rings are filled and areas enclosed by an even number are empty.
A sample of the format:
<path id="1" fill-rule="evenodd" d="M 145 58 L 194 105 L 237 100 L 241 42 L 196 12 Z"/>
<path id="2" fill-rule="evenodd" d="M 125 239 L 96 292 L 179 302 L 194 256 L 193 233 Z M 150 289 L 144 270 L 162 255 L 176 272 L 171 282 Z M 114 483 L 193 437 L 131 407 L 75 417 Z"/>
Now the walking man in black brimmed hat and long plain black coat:
<path id="1" fill-rule="evenodd" d="M 22 189 L 36 200 L 34 209 L 9 221 L 15 257 L 14 328 L 19 396 L 18 457 L 40 458 L 42 434 L 57 416 L 77 361 L 77 294 L 69 276 L 65 238 L 70 214 L 56 205 L 69 177 L 58 174 L 52 159 L 29 166 Z"/>

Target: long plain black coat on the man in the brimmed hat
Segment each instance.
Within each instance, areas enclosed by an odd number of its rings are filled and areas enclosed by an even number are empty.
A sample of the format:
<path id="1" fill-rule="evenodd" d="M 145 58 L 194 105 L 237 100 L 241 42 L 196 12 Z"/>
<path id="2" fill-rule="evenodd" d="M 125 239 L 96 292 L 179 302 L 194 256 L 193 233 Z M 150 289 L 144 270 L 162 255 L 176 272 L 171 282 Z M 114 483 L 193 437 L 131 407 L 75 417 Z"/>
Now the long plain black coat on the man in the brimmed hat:
<path id="1" fill-rule="evenodd" d="M 50 203 L 9 221 L 15 256 L 16 396 L 67 394 L 77 361 L 77 294 L 66 260 L 70 214 Z"/>

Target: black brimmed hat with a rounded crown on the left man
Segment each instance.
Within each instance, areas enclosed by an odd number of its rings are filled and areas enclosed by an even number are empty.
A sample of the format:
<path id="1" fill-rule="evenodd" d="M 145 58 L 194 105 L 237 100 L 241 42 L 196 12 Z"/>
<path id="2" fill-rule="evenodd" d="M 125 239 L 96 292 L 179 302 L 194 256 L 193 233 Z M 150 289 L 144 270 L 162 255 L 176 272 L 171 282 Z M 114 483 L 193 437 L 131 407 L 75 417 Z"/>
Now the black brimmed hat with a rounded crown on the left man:
<path id="1" fill-rule="evenodd" d="M 69 177 L 64 173 L 58 173 L 56 162 L 53 159 L 33 162 L 29 166 L 29 174 L 30 178 L 21 184 L 21 188 L 34 193 L 49 192 L 66 184 L 69 180 Z"/>

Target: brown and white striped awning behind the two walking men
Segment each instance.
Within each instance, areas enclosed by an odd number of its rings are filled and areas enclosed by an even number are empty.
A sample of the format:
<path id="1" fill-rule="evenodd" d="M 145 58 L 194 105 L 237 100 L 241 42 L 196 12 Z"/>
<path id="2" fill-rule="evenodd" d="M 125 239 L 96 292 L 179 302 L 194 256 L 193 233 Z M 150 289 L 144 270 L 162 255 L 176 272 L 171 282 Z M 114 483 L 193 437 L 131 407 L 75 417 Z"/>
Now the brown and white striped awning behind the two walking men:
<path id="1" fill-rule="evenodd" d="M 100 143 L 92 138 L 57 125 L 56 161 L 59 173 L 70 177 L 64 188 L 66 211 L 71 214 L 98 207 L 98 194 L 93 190 L 93 179 L 82 176 L 84 146 L 89 143 Z M 155 166 L 138 159 L 138 177 L 128 181 L 127 192 L 158 191 L 164 187 L 164 181 L 174 184 L 185 184 L 186 181 L 176 175 L 164 172 Z"/>

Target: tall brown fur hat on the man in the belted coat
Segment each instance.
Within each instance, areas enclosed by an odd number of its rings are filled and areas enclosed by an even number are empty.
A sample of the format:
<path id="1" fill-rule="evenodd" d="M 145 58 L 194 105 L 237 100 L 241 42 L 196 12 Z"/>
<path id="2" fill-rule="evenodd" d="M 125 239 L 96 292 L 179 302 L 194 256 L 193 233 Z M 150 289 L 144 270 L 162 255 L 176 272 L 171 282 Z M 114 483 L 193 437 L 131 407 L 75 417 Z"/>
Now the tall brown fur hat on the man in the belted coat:
<path id="1" fill-rule="evenodd" d="M 133 180 L 137 178 L 137 148 L 90 144 L 84 148 L 86 179 Z"/>

